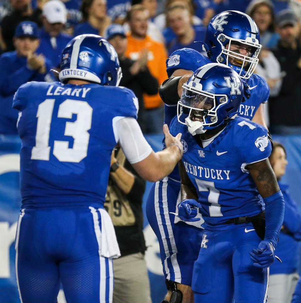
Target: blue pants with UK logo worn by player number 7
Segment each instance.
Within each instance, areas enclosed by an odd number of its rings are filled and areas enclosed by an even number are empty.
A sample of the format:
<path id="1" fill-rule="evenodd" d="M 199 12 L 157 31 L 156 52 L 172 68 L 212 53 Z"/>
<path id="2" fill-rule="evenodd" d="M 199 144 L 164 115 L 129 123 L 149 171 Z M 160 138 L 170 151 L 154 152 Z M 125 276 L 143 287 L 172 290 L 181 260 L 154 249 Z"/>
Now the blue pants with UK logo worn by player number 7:
<path id="1" fill-rule="evenodd" d="M 193 268 L 194 302 L 266 303 L 268 268 L 255 267 L 249 254 L 261 241 L 253 225 L 203 226 Z"/>

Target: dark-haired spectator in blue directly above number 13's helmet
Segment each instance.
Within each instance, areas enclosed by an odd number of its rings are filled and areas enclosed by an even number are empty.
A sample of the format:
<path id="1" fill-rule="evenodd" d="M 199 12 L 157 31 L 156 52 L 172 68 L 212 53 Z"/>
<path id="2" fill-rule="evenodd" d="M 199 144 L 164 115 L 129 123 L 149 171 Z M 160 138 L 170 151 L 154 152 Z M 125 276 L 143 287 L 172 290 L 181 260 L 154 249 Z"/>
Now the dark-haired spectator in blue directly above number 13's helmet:
<path id="1" fill-rule="evenodd" d="M 103 36 L 104 30 L 110 25 L 107 15 L 107 0 L 82 0 L 83 22 L 74 29 L 74 35 L 95 34 Z"/>

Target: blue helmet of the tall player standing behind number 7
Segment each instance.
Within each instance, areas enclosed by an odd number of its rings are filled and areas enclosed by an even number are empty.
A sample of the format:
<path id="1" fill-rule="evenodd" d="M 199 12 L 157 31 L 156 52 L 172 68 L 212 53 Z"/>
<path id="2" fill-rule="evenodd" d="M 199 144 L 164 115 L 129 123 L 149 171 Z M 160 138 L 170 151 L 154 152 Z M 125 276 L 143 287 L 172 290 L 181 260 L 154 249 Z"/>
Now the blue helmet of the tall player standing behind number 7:
<path id="1" fill-rule="evenodd" d="M 246 47 L 248 56 L 239 54 L 233 47 L 235 44 Z M 213 17 L 203 45 L 212 61 L 231 66 L 243 79 L 249 79 L 255 71 L 261 47 L 255 21 L 239 11 L 225 11 Z"/>

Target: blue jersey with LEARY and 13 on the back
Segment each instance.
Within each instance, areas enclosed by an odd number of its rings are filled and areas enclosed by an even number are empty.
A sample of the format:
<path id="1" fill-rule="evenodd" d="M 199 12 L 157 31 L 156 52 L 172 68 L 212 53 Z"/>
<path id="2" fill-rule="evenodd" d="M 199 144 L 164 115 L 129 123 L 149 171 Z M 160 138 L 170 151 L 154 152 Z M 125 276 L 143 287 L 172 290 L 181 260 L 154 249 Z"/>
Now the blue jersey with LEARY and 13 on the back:
<path id="1" fill-rule="evenodd" d="M 28 82 L 14 96 L 19 110 L 22 207 L 100 207 L 118 141 L 114 123 L 137 118 L 127 88 Z"/>

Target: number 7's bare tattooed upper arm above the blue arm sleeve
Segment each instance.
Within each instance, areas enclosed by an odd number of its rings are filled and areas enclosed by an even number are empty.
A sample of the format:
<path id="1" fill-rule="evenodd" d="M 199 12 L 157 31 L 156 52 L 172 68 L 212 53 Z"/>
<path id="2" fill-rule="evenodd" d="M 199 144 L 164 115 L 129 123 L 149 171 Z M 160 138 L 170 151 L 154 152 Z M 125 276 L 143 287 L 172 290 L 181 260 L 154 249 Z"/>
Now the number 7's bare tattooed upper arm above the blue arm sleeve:
<path id="1" fill-rule="evenodd" d="M 266 198 L 280 190 L 268 159 L 250 164 L 247 168 L 262 198 Z"/>

